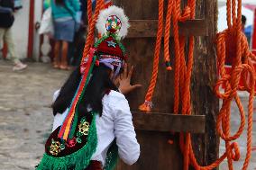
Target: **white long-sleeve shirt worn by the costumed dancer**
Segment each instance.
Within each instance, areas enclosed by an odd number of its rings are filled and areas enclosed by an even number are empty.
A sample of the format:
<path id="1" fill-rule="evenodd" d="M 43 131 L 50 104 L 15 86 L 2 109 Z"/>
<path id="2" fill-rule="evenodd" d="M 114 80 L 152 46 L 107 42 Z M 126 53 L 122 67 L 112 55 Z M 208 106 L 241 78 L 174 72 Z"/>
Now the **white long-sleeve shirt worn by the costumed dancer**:
<path id="1" fill-rule="evenodd" d="M 58 95 L 59 91 L 53 95 L 54 101 Z M 136 139 L 128 101 L 123 94 L 111 91 L 105 94 L 102 103 L 102 116 L 96 115 L 98 143 L 92 160 L 100 161 L 104 166 L 107 150 L 115 138 L 119 157 L 124 163 L 133 165 L 140 156 L 140 145 Z M 52 131 L 61 126 L 67 114 L 68 109 L 62 114 L 56 114 Z"/>

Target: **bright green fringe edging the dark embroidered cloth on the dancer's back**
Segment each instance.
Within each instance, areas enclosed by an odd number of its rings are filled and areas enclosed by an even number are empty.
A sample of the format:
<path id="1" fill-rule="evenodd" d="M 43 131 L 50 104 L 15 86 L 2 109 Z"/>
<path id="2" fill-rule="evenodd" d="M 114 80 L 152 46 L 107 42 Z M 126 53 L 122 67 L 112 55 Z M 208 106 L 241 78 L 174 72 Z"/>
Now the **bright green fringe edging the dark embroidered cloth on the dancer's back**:
<path id="1" fill-rule="evenodd" d="M 70 167 L 73 170 L 84 170 L 96 152 L 96 146 L 96 113 L 93 113 L 93 120 L 88 131 L 87 144 L 77 152 L 65 157 L 51 157 L 45 153 L 36 170 L 69 170 Z"/>

